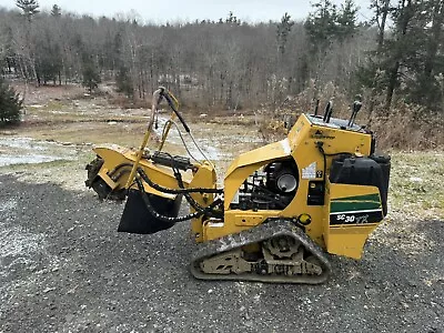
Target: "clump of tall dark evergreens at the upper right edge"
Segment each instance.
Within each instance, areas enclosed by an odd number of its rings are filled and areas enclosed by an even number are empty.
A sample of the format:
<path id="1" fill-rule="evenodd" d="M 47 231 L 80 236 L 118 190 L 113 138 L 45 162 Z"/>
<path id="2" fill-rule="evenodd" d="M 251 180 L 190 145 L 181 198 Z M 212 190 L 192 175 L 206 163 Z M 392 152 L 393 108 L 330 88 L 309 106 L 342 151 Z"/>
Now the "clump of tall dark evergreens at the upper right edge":
<path id="1" fill-rule="evenodd" d="M 379 27 L 377 48 L 371 54 L 361 81 L 374 92 L 385 90 L 386 111 L 394 97 L 406 102 L 442 110 L 443 90 L 438 81 L 444 72 L 444 0 L 373 0 L 374 22 Z M 393 21 L 384 33 L 387 18 Z"/>

